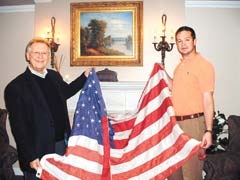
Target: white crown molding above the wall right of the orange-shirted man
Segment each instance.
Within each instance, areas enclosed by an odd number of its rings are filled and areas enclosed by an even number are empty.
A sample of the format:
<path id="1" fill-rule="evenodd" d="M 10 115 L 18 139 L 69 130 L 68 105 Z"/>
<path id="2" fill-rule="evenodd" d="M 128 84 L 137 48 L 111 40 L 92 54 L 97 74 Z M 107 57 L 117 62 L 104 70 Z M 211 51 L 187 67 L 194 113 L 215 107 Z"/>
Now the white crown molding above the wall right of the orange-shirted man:
<path id="1" fill-rule="evenodd" d="M 185 1 L 185 7 L 240 8 L 240 1 Z"/>

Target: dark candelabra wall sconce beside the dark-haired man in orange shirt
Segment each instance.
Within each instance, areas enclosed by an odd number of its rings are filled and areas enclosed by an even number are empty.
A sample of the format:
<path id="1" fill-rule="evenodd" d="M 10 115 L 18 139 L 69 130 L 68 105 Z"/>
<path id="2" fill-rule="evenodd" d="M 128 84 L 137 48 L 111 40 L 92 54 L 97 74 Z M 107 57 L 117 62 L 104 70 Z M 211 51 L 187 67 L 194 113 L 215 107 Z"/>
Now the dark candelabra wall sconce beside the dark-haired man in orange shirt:
<path id="1" fill-rule="evenodd" d="M 165 53 L 166 53 L 166 51 L 170 52 L 173 49 L 173 45 L 174 45 L 173 42 L 168 43 L 166 41 L 166 35 L 165 35 L 165 33 L 166 33 L 166 23 L 167 23 L 167 15 L 163 14 L 162 15 L 162 25 L 163 25 L 162 32 L 163 32 L 163 35 L 160 36 L 161 37 L 161 41 L 158 42 L 158 43 L 157 42 L 153 42 L 155 50 L 156 51 L 161 51 L 161 56 L 162 56 L 161 63 L 162 63 L 163 66 L 165 65 L 164 61 L 165 61 Z M 154 41 L 155 41 L 155 39 L 156 39 L 156 37 L 154 37 Z M 171 39 L 173 41 L 173 36 L 171 37 Z"/>

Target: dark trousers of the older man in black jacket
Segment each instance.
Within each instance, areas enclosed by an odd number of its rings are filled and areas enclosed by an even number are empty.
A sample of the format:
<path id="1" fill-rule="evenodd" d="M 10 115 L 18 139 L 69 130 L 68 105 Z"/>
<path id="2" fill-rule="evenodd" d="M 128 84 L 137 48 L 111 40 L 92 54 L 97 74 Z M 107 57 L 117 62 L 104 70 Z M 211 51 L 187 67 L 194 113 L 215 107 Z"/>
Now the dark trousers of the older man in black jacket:
<path id="1" fill-rule="evenodd" d="M 64 155 L 66 151 L 66 145 L 64 140 L 58 141 L 55 143 L 55 152 L 59 155 Z M 27 171 L 23 172 L 24 180 L 39 180 L 39 178 L 36 177 L 35 173 L 30 173 Z"/>

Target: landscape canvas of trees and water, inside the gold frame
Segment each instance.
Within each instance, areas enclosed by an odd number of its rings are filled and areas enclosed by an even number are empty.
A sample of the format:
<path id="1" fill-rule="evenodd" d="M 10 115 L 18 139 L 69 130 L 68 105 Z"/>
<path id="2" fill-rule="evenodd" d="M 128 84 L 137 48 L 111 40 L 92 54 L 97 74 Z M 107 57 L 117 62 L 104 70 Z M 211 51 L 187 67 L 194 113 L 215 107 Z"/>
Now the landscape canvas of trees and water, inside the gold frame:
<path id="1" fill-rule="evenodd" d="M 81 13 L 82 56 L 132 56 L 132 12 Z"/>

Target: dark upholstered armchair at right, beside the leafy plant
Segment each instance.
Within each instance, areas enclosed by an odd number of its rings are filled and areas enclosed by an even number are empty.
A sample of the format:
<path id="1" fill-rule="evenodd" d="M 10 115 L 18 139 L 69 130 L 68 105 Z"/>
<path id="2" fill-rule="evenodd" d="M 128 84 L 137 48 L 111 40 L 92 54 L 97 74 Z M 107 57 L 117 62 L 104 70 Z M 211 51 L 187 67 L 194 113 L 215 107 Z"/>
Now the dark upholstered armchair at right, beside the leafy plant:
<path id="1" fill-rule="evenodd" d="M 229 144 L 226 151 L 207 155 L 205 180 L 240 180 L 240 116 L 231 115 L 227 122 Z"/>

